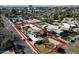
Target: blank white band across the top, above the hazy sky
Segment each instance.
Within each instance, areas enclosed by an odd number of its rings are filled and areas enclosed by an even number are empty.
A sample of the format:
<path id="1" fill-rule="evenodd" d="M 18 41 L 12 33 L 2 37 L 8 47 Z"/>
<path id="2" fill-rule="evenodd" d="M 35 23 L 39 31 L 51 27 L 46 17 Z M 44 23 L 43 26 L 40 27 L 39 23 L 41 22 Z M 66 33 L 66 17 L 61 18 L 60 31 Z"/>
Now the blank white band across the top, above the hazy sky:
<path id="1" fill-rule="evenodd" d="M 79 5 L 79 0 L 0 0 L 0 5 Z"/>

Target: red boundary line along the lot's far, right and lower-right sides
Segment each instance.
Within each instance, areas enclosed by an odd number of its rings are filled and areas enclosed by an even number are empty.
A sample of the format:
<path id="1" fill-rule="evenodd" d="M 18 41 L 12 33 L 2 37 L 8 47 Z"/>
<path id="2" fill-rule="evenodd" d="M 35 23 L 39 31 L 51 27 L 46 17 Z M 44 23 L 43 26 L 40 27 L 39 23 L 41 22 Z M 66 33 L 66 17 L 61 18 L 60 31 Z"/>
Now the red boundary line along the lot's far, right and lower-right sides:
<path id="1" fill-rule="evenodd" d="M 43 30 L 44 32 L 47 32 L 50 36 L 52 36 L 52 38 L 54 38 L 54 39 L 56 39 L 57 41 L 59 41 L 59 42 L 61 42 L 61 43 L 62 43 L 62 45 L 61 45 L 61 46 L 59 46 L 59 47 L 56 47 L 56 48 L 52 49 L 52 51 L 56 51 L 58 48 L 61 48 L 61 47 L 63 47 L 64 45 L 66 45 L 66 44 L 67 44 L 66 42 L 63 42 L 62 40 L 60 40 L 59 38 L 57 38 L 56 36 L 54 36 L 53 34 L 51 34 L 49 31 L 44 30 L 44 29 L 42 29 L 41 27 L 37 26 L 37 25 L 36 25 L 35 23 L 33 23 L 33 22 L 26 22 L 26 23 L 22 23 L 22 24 L 15 24 L 15 25 L 16 25 L 16 26 L 22 26 L 22 25 L 26 25 L 26 24 L 32 24 L 32 25 L 34 25 L 34 26 L 38 27 L 39 29 Z M 52 51 L 50 51 L 50 52 L 48 52 L 48 53 L 51 53 Z"/>

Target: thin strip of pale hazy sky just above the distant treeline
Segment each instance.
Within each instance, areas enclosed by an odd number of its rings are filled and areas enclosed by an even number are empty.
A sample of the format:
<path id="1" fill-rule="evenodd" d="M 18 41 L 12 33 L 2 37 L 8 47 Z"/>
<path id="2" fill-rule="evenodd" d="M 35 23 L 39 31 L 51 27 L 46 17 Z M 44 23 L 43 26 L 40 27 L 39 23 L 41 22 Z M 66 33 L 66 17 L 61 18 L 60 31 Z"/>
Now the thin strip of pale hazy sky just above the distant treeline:
<path id="1" fill-rule="evenodd" d="M 0 7 L 28 7 L 29 5 L 0 5 Z M 79 5 L 32 5 L 33 7 L 79 7 Z"/>

